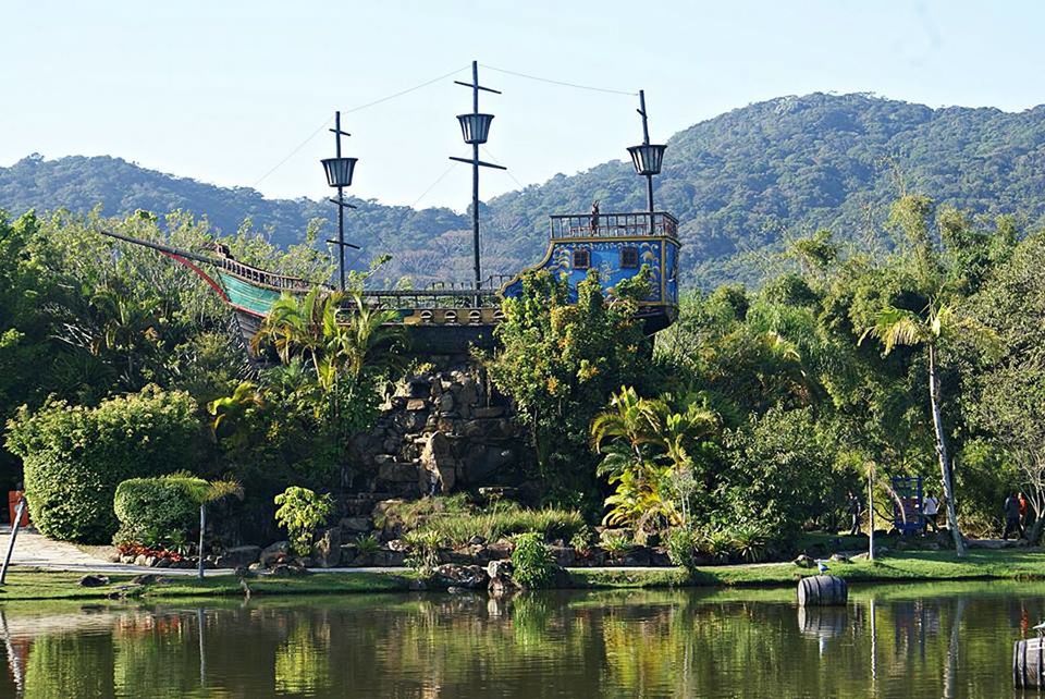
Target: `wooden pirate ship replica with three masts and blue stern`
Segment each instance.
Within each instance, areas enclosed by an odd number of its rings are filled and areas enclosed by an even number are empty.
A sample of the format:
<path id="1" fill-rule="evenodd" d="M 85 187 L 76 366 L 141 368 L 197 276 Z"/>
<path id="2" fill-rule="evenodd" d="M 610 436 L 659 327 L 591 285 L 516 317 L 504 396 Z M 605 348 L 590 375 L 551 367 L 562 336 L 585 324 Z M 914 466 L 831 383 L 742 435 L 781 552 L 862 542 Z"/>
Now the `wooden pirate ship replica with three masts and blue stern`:
<path id="1" fill-rule="evenodd" d="M 595 203 L 589 213 L 551 216 L 548 252 L 536 266 L 516 275 L 482 278 L 479 253 L 479 169 L 502 165 L 479 159 L 479 146 L 487 143 L 493 114 L 479 111 L 479 93 L 500 94 L 479 85 L 478 64 L 472 62 L 471 83 L 455 81 L 472 91 L 472 110 L 458 114 L 464 142 L 471 146 L 471 158 L 451 157 L 472 167 L 472 247 L 475 278 L 470 282 L 438 282 L 425 290 L 366 290 L 366 304 L 394 310 L 410 340 L 410 352 L 419 355 L 460 355 L 469 346 L 493 345 L 493 329 L 503 319 L 501 302 L 522 293 L 521 277 L 529 270 L 548 270 L 565 277 L 571 295 L 589 270 L 599 272 L 603 289 L 613 293 L 619 282 L 643 268 L 650 273 L 650 294 L 639 305 L 639 315 L 648 333 L 674 322 L 678 309 L 678 221 L 653 207 L 653 176 L 661 172 L 664 145 L 651 144 L 646 111 L 646 95 L 639 91 L 638 113 L 642 118 L 642 144 L 628 152 L 637 174 L 647 180 L 647 210 L 630 213 L 602 213 Z M 345 211 L 355 207 L 344 200 L 352 185 L 357 158 L 342 156 L 341 112 L 335 113 L 335 156 L 322 160 L 328 184 L 336 188 L 337 238 L 329 241 L 339 254 L 340 283 L 345 287 L 345 249 L 359 246 L 345 241 Z M 213 244 L 207 252 L 176 249 L 163 244 L 106 233 L 126 243 L 152 248 L 185 265 L 217 292 L 235 314 L 239 332 L 249 346 L 272 305 L 283 294 L 305 295 L 316 286 L 312 281 L 284 277 L 235 260 L 228 248 Z M 320 284 L 333 291 L 331 284 Z M 349 312 L 349 309 L 346 309 Z"/>

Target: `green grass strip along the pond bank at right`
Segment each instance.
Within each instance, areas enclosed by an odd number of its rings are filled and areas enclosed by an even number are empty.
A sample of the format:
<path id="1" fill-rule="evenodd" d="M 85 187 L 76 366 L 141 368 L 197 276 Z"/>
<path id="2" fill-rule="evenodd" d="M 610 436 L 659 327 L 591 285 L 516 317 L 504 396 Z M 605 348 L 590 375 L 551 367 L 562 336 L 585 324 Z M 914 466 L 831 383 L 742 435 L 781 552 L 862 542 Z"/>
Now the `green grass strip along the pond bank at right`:
<path id="1" fill-rule="evenodd" d="M 919 581 L 975 579 L 1045 579 L 1045 552 L 970 551 L 957 559 L 949 551 L 909 551 L 881 557 L 874 563 L 828 564 L 832 575 L 855 581 Z M 577 568 L 570 575 L 580 587 L 674 587 L 674 586 L 784 586 L 800 577 L 815 575 L 815 569 L 799 568 L 792 563 L 727 565 L 698 568 L 688 576 L 681 568 L 655 571 L 604 571 Z"/>

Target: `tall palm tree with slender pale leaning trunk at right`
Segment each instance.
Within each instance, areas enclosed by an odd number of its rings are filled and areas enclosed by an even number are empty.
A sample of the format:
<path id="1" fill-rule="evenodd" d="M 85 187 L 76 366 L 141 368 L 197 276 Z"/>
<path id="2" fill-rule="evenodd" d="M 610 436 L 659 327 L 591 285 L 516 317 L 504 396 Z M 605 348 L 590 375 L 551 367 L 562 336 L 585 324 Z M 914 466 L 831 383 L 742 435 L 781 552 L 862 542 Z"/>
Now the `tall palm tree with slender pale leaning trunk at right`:
<path id="1" fill-rule="evenodd" d="M 947 518 L 955 540 L 955 552 L 966 553 L 964 540 L 958 528 L 958 515 L 955 507 L 954 469 L 947 451 L 947 436 L 944 431 L 942 413 L 943 397 L 939 387 L 939 350 L 942 343 L 959 335 L 971 334 L 985 346 L 993 344 L 988 329 L 970 318 L 959 317 L 947 304 L 931 299 L 921 314 L 889 306 L 878 312 L 874 326 L 868 328 L 860 338 L 862 343 L 869 335 L 877 338 L 889 354 L 898 345 L 923 346 L 929 360 L 929 402 L 933 413 L 933 431 L 936 440 L 936 456 L 939 461 L 944 496 L 947 500 Z"/>

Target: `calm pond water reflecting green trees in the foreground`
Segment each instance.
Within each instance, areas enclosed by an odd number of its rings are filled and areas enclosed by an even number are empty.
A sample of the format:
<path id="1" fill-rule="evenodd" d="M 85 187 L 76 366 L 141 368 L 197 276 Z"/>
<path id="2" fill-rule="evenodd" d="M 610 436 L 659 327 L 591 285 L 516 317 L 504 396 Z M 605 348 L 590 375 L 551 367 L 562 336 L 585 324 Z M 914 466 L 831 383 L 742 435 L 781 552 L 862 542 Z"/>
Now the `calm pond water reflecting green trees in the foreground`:
<path id="1" fill-rule="evenodd" d="M 0 697 L 1001 697 L 1045 584 L 0 605 Z"/>

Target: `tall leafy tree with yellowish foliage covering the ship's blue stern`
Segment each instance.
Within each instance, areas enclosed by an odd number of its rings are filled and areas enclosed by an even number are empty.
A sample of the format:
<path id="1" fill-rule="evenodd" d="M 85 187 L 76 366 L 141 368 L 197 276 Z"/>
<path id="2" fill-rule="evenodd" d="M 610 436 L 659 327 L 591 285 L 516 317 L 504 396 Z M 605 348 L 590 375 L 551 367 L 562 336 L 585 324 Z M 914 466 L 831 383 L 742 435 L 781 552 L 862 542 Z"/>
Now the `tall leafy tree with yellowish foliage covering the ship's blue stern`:
<path id="1" fill-rule="evenodd" d="M 647 287 L 643 273 L 611 299 L 591 270 L 571 303 L 565 280 L 539 271 L 524 275 L 518 298 L 504 301 L 490 377 L 530 429 L 550 500 L 577 505 L 597 490 L 588 426 L 614 388 L 649 372 L 650 341 L 635 318 Z"/>

